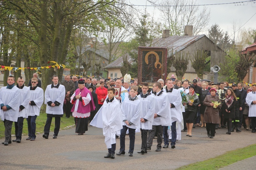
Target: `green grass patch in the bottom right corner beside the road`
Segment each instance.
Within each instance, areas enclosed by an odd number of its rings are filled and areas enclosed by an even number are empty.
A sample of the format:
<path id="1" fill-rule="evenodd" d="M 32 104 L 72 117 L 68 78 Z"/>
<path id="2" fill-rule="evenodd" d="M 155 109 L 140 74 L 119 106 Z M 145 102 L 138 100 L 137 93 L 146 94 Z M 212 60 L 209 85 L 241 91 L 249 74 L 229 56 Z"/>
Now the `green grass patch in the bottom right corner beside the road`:
<path id="1" fill-rule="evenodd" d="M 183 166 L 179 169 L 200 169 L 200 170 L 209 170 L 209 169 L 219 169 L 226 167 L 230 164 L 236 163 L 240 160 L 244 160 L 256 155 L 256 144 L 250 145 L 245 148 L 240 148 L 233 151 L 228 151 L 223 155 L 219 155 L 215 158 L 204 160 L 202 162 L 197 162 L 194 164 L 189 164 Z"/>

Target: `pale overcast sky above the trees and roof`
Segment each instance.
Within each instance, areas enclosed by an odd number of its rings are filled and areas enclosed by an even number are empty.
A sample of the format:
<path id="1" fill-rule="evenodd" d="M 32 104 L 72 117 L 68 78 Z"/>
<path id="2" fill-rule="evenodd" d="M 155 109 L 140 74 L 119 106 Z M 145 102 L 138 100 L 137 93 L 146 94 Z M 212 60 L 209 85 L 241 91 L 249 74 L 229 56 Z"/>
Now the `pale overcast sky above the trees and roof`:
<path id="1" fill-rule="evenodd" d="M 147 0 L 127 0 L 128 3 L 134 5 L 151 5 Z M 160 0 L 152 0 L 160 1 Z M 232 4 L 221 4 L 221 5 L 207 5 L 210 13 L 210 21 L 208 28 L 213 24 L 217 23 L 220 28 L 226 32 L 228 31 L 229 35 L 233 33 L 232 22 L 237 23 L 237 28 L 240 28 L 243 24 L 244 26 L 241 29 L 256 29 L 256 1 L 254 2 L 244 2 L 246 0 L 197 0 L 197 4 L 217 4 L 217 3 L 232 3 Z M 235 3 L 233 2 L 244 2 L 244 3 Z M 137 8 L 143 10 L 145 6 L 137 6 Z M 199 6 L 201 10 L 203 6 Z M 147 12 L 155 12 L 155 16 L 159 16 L 160 13 L 157 8 L 153 6 L 147 6 Z M 252 17 L 252 18 L 251 18 Z M 251 18 L 251 19 L 250 19 Z M 204 34 L 207 34 L 204 32 Z"/>

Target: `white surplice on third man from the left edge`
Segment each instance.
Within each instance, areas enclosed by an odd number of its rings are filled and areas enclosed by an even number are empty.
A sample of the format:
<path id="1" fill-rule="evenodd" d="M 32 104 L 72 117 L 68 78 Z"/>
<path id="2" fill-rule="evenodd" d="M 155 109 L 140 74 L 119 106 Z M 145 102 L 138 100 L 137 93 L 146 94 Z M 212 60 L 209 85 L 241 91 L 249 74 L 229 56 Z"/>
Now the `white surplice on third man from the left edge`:
<path id="1" fill-rule="evenodd" d="M 34 101 L 35 105 L 28 105 L 28 116 L 39 116 L 40 108 L 44 102 L 44 90 L 40 87 L 30 90 L 30 101 Z"/>

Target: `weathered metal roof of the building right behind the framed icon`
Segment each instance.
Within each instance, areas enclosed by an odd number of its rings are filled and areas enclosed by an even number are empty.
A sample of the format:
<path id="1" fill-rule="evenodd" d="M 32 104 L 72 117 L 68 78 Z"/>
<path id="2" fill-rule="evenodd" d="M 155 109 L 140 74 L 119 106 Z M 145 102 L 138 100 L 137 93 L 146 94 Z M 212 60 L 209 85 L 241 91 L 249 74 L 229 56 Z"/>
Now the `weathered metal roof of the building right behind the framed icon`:
<path id="1" fill-rule="evenodd" d="M 194 43 L 198 39 L 204 37 L 205 35 L 195 35 L 195 36 L 169 36 L 166 38 L 155 38 L 152 41 L 152 47 L 167 47 L 168 52 L 170 52 L 173 49 L 173 53 L 175 53 L 175 50 L 181 51 L 190 44 Z"/>

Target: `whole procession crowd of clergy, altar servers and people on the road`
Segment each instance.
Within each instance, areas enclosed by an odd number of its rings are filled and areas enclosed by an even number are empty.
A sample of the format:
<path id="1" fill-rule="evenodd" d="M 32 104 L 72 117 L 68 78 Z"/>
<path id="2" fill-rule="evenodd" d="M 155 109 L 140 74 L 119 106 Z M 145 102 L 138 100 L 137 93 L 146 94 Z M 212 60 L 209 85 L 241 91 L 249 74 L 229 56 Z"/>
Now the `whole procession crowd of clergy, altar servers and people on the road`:
<path id="1" fill-rule="evenodd" d="M 52 118 L 55 119 L 53 139 L 56 139 L 63 115 L 66 114 L 67 119 L 73 116 L 78 135 L 85 134 L 88 125 L 103 129 L 108 148 L 105 158 L 125 155 L 127 134 L 130 140 L 128 155 L 133 156 L 134 150 L 147 154 L 148 150 L 155 148 L 160 152 L 169 145 L 174 149 L 176 140 L 181 140 L 181 132 L 187 132 L 185 137 L 192 137 L 195 126 L 206 126 L 205 136 L 210 138 L 215 137 L 217 129 L 226 126 L 229 135 L 234 130 L 241 132 L 242 126 L 256 132 L 256 84 L 244 87 L 241 82 L 214 84 L 197 79 L 181 82 L 173 75 L 151 85 L 143 83 L 138 88 L 137 80 L 131 80 L 129 74 L 115 80 L 90 77 L 77 80 L 76 76 L 71 80 L 67 75 L 64 82 L 53 75 L 52 84 L 44 93 L 38 86 L 37 75 L 30 79 L 31 86 L 26 87 L 24 82 L 19 77 L 15 86 L 15 78 L 9 76 L 8 85 L 0 89 L 0 118 L 5 126 L 2 144 L 5 146 L 21 142 L 24 118 L 28 123 L 26 140 L 35 141 L 36 118 L 43 102 L 47 114 L 43 138 L 49 138 Z M 14 140 L 11 139 L 13 122 Z M 139 131 L 141 148 L 134 148 L 135 134 Z M 115 153 L 118 137 L 120 149 Z M 153 145 L 154 137 L 157 137 L 156 146 Z"/>

